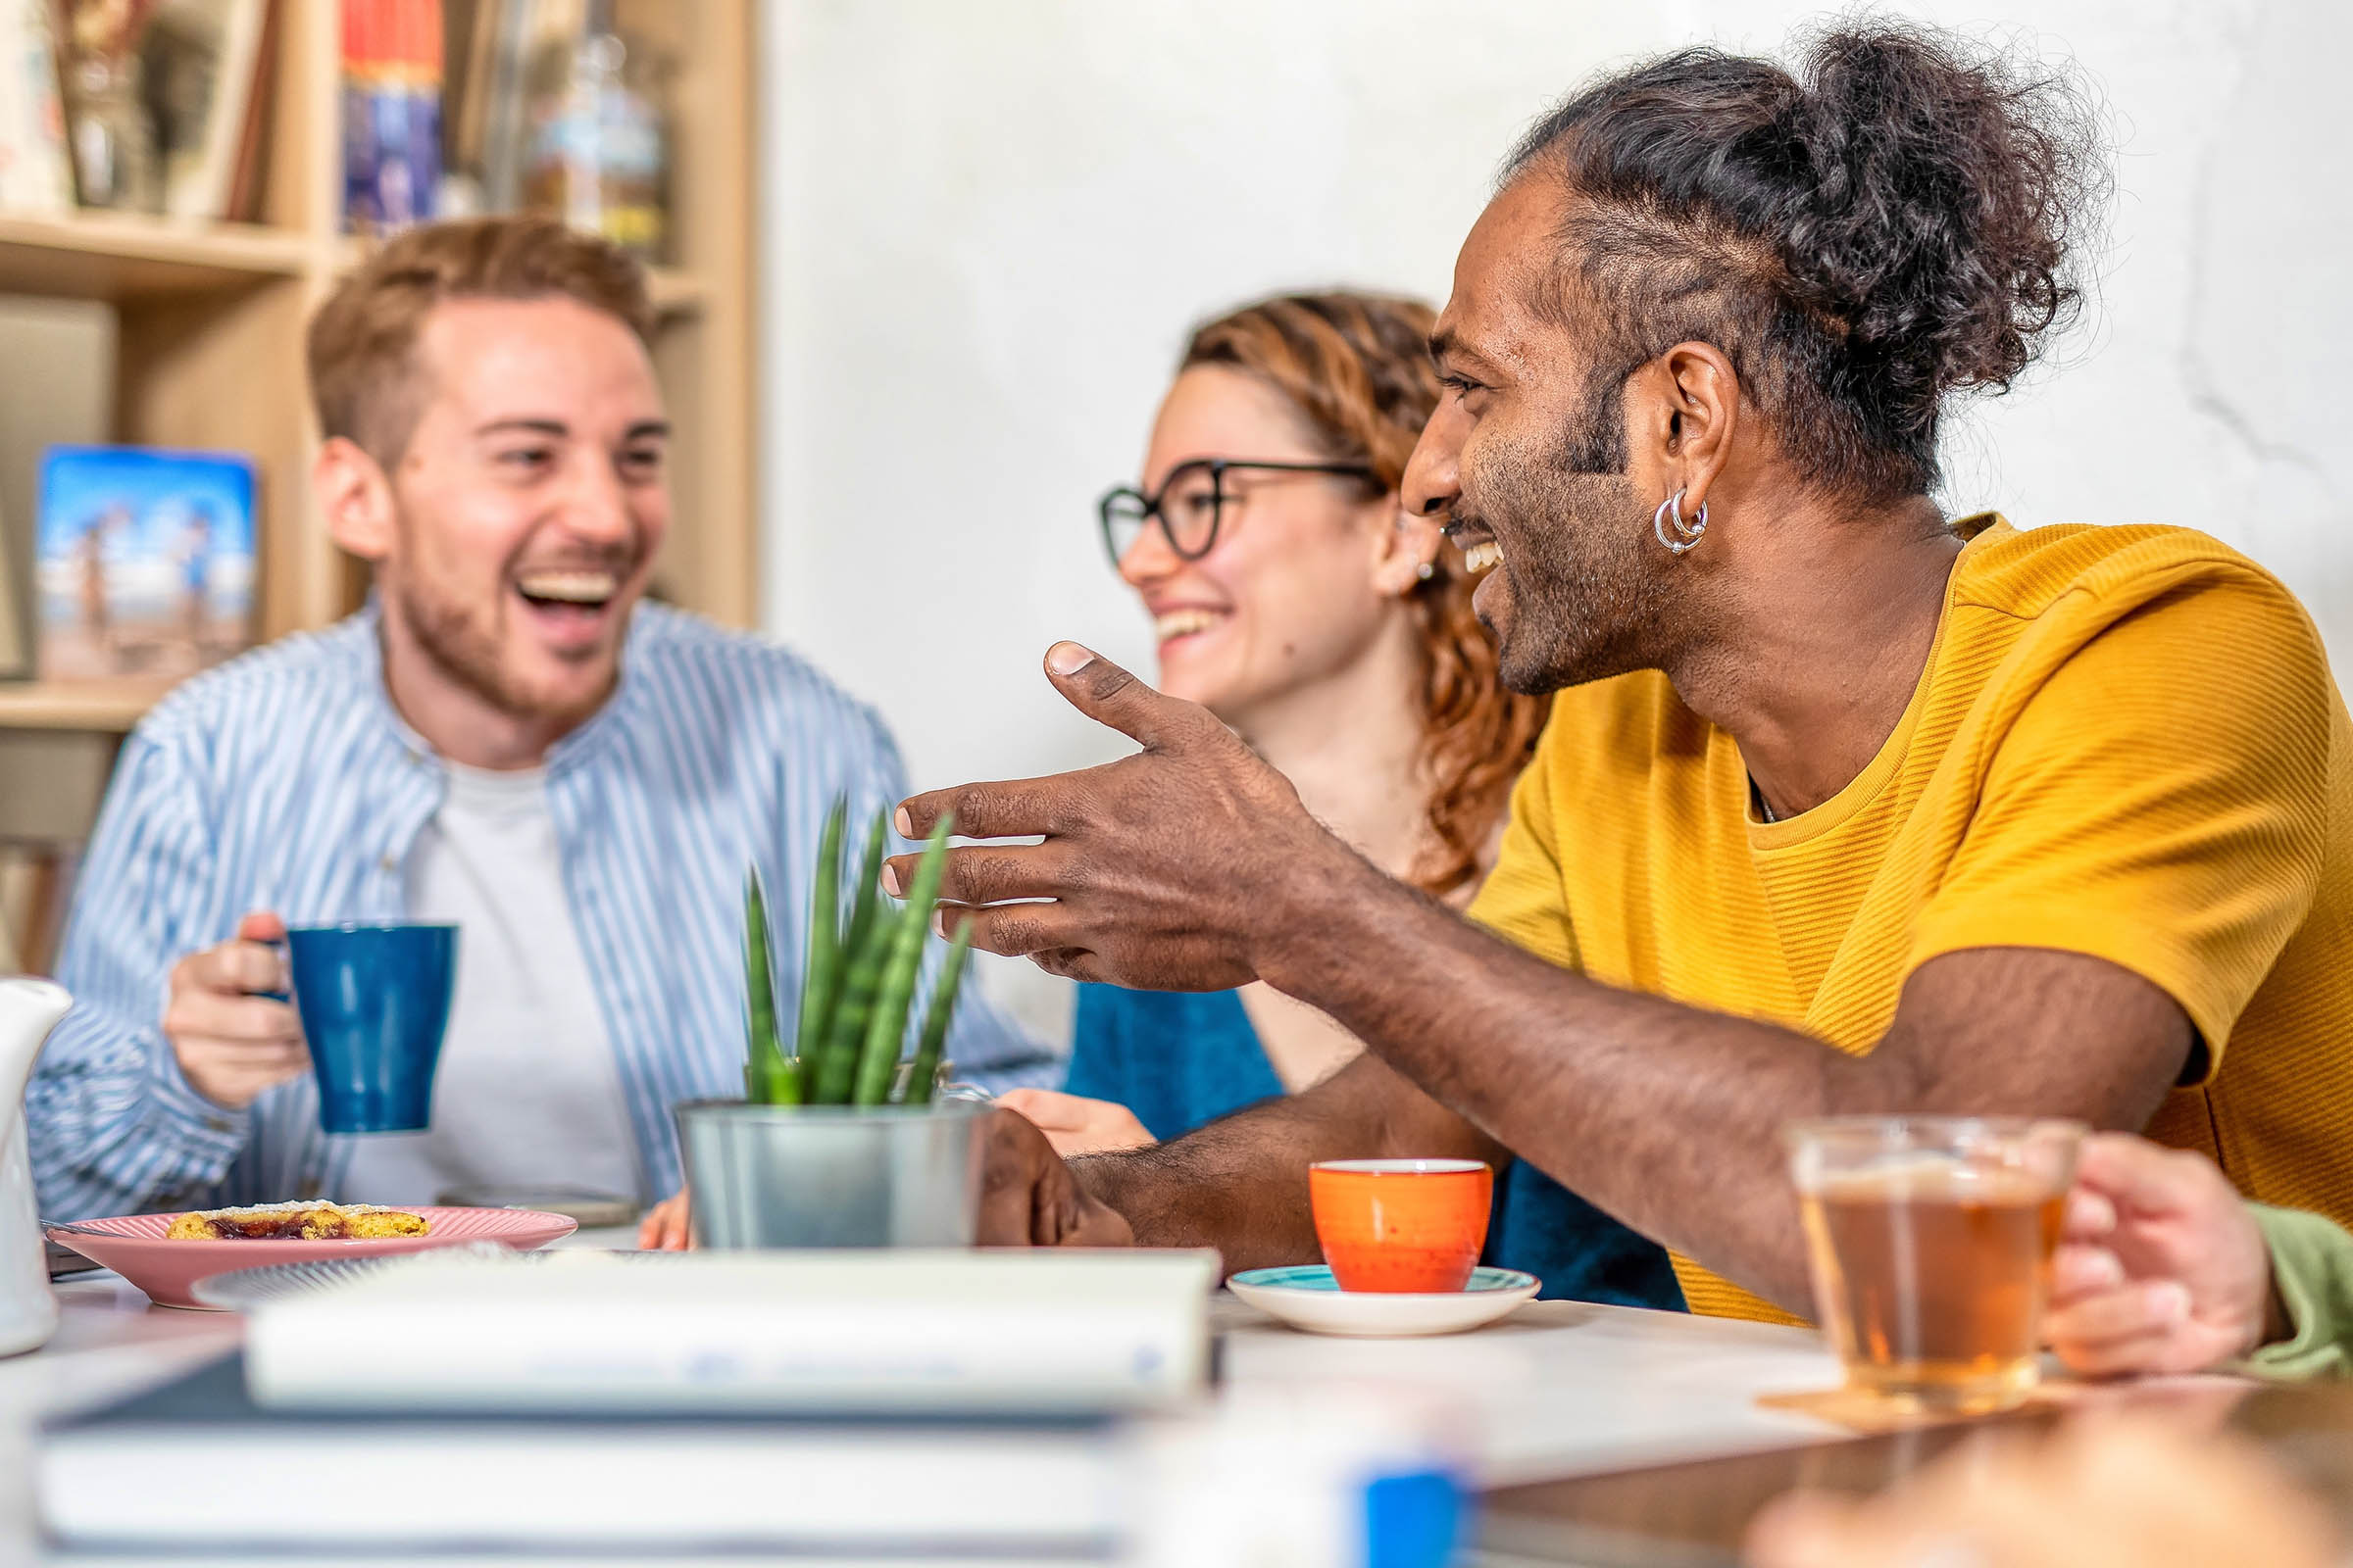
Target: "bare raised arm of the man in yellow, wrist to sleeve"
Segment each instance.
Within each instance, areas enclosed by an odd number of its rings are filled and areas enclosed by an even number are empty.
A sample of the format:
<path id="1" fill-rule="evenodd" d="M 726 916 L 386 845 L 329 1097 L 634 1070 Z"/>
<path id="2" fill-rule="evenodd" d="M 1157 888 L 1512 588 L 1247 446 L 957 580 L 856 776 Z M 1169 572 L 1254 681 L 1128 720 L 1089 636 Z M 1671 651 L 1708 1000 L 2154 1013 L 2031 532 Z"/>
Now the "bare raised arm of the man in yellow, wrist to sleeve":
<path id="1" fill-rule="evenodd" d="M 1287 917 L 1285 917 L 1287 914 Z M 1259 971 L 1433 1100 L 1626 1225 L 1767 1300 L 1812 1288 L 1781 1128 L 1835 1114 L 2038 1114 L 2139 1128 L 2191 1048 L 2181 1006 L 2104 959 L 1981 947 L 1904 980 L 1847 1056 L 1795 1030 L 1600 985 L 1369 867 L 1275 912 Z"/>

